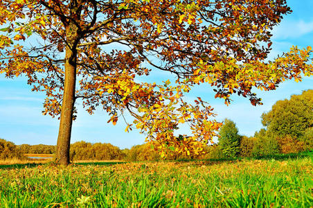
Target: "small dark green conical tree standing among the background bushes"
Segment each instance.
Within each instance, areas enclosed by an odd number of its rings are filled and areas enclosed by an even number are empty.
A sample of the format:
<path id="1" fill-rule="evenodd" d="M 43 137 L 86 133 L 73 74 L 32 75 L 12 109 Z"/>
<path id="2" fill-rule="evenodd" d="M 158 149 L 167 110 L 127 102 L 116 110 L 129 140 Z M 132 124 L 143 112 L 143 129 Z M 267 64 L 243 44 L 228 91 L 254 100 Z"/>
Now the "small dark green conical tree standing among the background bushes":
<path id="1" fill-rule="evenodd" d="M 226 157 L 235 157 L 240 153 L 240 139 L 238 128 L 235 123 L 229 119 L 224 120 L 220 128 L 220 139 L 218 145 Z"/>

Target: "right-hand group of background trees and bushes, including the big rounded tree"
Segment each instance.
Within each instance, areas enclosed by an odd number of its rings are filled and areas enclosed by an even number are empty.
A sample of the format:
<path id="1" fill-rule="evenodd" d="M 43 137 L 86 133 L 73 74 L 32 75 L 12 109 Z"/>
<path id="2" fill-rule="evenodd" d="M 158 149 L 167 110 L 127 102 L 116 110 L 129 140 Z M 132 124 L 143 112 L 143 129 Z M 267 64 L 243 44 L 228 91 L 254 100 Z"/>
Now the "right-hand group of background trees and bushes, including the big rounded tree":
<path id="1" fill-rule="evenodd" d="M 313 90 L 303 91 L 277 101 L 261 116 L 264 128 L 253 137 L 238 135 L 238 128 L 229 119 L 220 129 L 219 143 L 213 157 L 262 157 L 299 153 L 313 148 Z M 213 147 L 211 147 L 213 149 Z"/>

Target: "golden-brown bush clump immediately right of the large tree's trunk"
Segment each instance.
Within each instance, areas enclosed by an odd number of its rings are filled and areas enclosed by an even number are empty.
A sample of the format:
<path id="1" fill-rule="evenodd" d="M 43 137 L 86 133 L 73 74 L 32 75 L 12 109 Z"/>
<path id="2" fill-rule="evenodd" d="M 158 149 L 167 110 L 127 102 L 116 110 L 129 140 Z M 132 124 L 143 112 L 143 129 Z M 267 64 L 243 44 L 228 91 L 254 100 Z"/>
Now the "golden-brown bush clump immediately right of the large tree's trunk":
<path id="1" fill-rule="evenodd" d="M 71 144 L 71 160 L 113 160 L 123 159 L 125 154 L 111 144 L 77 141 Z"/>

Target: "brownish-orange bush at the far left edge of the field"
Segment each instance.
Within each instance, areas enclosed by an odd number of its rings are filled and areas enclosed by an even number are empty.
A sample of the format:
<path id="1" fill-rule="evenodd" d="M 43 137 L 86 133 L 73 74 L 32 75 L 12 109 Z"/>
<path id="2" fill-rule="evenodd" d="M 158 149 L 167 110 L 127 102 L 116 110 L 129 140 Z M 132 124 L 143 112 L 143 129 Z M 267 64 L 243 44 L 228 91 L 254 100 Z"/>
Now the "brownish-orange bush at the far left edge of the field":
<path id="1" fill-rule="evenodd" d="M 13 142 L 0 139 L 0 159 L 25 159 L 25 157 Z"/>

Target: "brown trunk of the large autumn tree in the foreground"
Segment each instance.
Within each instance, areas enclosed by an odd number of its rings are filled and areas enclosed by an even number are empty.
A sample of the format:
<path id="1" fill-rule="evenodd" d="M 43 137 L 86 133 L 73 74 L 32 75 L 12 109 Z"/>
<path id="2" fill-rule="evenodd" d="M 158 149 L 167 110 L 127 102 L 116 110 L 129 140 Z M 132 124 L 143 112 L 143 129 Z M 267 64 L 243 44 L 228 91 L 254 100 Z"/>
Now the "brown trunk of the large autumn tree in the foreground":
<path id="1" fill-rule="evenodd" d="M 71 143 L 71 130 L 73 123 L 73 110 L 75 103 L 75 82 L 76 82 L 76 60 L 77 51 L 75 49 L 75 38 L 77 33 L 75 26 L 69 24 L 66 27 L 67 45 L 65 49 L 65 78 L 64 92 L 61 108 L 60 128 L 57 137 L 57 151 L 55 155 L 55 163 L 69 164 L 69 148 Z"/>

